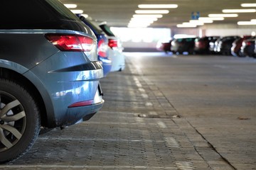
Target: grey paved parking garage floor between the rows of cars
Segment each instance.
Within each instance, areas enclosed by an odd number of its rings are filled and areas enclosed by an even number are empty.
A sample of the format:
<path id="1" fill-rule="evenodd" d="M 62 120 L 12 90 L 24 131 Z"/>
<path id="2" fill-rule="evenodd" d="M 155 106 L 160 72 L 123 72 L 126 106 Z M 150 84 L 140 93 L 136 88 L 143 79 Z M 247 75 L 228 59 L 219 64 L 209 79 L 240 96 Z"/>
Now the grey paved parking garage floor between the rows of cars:
<path id="1" fill-rule="evenodd" d="M 0 169 L 256 169 L 256 60 L 126 55 L 99 113 Z"/>

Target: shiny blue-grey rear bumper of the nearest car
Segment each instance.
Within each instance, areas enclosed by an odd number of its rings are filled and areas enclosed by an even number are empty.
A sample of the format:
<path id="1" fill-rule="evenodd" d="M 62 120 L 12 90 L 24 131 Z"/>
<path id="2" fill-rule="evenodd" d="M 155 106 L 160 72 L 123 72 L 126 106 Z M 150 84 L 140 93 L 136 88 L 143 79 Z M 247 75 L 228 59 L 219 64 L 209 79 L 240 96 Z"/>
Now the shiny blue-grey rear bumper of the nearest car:
<path id="1" fill-rule="evenodd" d="M 79 52 L 57 53 L 26 72 L 26 77 L 33 79 L 43 98 L 48 128 L 73 125 L 102 107 L 104 100 L 98 87 L 103 77 L 102 65 L 98 61 L 85 60 L 86 57 Z M 55 69 L 57 63 L 59 68 Z M 70 107 L 88 101 L 89 104 Z"/>

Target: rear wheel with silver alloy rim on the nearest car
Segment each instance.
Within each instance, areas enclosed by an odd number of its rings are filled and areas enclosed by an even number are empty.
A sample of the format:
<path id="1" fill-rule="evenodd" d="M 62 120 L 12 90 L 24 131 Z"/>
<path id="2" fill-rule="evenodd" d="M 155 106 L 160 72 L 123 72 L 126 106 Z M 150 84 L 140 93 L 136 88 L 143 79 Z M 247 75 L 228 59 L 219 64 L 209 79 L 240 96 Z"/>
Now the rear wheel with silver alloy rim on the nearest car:
<path id="1" fill-rule="evenodd" d="M 28 152 L 40 130 L 33 96 L 13 80 L 0 79 L 0 163 Z"/>

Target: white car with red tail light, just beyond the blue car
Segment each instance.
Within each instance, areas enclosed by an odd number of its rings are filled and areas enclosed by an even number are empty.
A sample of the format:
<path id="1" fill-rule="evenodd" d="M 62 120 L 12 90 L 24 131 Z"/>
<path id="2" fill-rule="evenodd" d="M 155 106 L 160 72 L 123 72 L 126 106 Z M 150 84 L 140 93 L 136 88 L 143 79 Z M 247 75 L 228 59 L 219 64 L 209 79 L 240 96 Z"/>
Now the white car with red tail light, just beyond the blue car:
<path id="1" fill-rule="evenodd" d="M 107 34 L 108 46 L 109 46 L 109 57 L 112 60 L 111 72 L 122 71 L 125 69 L 125 56 L 123 54 L 124 47 L 122 46 L 121 40 L 112 33 L 110 26 L 107 25 L 107 22 L 102 21 L 92 21 L 95 24 L 98 24 L 100 28 Z"/>

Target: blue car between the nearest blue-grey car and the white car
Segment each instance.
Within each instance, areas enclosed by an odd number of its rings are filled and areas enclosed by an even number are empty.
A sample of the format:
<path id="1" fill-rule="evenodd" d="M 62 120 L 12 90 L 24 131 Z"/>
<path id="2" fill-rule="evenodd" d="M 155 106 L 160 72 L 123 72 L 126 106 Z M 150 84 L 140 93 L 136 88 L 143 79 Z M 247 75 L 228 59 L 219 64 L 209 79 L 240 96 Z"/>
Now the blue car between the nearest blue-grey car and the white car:
<path id="1" fill-rule="evenodd" d="M 84 22 L 87 26 L 89 26 L 92 29 L 93 33 L 95 33 L 97 37 L 97 49 L 98 49 L 97 57 L 102 64 L 103 73 L 104 73 L 104 76 L 106 77 L 107 74 L 110 73 L 112 68 L 112 60 L 109 57 L 109 52 L 107 52 L 108 50 L 107 35 L 103 32 L 103 30 L 99 26 L 97 26 L 97 24 L 92 23 L 90 20 L 86 19 L 84 16 L 80 16 L 79 14 L 78 14 L 78 17 L 80 17 L 80 20 L 82 20 L 82 22 Z"/>

